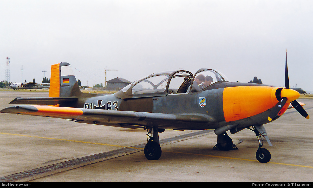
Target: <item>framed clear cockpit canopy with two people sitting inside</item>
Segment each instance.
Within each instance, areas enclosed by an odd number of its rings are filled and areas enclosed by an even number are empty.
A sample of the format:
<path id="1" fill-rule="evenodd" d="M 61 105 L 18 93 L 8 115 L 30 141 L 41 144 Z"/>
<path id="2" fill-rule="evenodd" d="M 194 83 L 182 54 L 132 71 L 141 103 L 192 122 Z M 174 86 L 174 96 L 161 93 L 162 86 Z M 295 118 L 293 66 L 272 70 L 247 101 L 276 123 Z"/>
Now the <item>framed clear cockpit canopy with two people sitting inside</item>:
<path id="1" fill-rule="evenodd" d="M 185 70 L 156 72 L 129 84 L 115 93 L 115 96 L 126 99 L 181 93 L 192 94 L 208 89 L 218 82 L 228 82 L 228 79 L 213 69 L 202 68 L 195 75 Z"/>

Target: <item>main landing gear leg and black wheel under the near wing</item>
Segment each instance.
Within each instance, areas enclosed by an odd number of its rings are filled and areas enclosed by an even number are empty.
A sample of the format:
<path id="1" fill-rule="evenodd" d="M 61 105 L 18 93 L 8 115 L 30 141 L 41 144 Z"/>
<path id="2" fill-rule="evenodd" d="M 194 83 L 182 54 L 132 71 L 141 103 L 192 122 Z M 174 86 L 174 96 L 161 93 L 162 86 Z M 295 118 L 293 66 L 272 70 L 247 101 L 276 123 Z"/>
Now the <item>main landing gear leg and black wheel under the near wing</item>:
<path id="1" fill-rule="evenodd" d="M 149 127 L 147 131 L 149 140 L 144 149 L 145 156 L 148 160 L 158 160 L 162 154 L 158 129 L 157 127 Z"/>

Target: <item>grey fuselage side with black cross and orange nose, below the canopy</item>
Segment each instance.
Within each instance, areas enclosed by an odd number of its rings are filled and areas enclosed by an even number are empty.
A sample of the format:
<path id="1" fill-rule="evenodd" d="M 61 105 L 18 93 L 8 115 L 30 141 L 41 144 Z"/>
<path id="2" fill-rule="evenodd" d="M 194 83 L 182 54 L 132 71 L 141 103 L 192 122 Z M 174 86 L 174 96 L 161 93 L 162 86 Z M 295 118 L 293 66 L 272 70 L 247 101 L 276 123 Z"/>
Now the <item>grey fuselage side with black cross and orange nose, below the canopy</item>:
<path id="1" fill-rule="evenodd" d="M 88 98 L 83 108 L 167 114 L 202 114 L 211 117 L 212 122 L 215 121 L 215 123 L 192 129 L 215 129 L 233 124 L 238 124 L 237 127 L 247 127 L 270 122 L 268 121 L 269 113 L 278 102 L 277 89 L 279 87 L 261 84 L 217 82 L 205 90 L 195 93 L 129 99 L 116 97 L 119 96 L 118 93 L 96 96 Z M 288 106 L 286 104 L 281 114 Z M 175 129 L 170 126 L 163 128 Z"/>

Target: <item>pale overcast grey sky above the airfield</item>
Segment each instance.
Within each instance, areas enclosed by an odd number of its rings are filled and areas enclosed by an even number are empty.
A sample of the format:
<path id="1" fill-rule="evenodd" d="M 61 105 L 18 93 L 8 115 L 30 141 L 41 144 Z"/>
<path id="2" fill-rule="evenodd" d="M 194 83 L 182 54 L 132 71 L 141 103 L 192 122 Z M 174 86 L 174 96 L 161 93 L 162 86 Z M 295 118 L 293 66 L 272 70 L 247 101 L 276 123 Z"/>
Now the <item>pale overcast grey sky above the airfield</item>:
<path id="1" fill-rule="evenodd" d="M 41 82 L 68 62 L 82 85 L 200 68 L 313 92 L 310 0 L 0 0 L 0 80 Z"/>

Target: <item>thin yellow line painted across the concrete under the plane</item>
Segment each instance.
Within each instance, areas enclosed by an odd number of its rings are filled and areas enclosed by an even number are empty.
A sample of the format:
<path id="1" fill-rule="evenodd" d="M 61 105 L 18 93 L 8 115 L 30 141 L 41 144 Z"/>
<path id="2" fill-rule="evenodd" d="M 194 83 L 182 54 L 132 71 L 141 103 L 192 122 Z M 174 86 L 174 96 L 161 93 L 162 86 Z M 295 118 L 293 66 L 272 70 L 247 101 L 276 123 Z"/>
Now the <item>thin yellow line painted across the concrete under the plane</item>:
<path id="1" fill-rule="evenodd" d="M 42 136 L 20 135 L 20 134 L 12 134 L 12 133 L 5 133 L 5 132 L 0 132 L 0 134 L 14 135 L 14 136 L 27 136 L 27 137 L 33 137 L 33 138 L 44 138 L 44 139 L 51 139 L 51 140 L 71 141 L 71 142 L 80 142 L 80 143 L 87 143 L 87 144 L 97 144 L 97 145 L 104 145 L 104 146 L 115 146 L 115 147 L 133 148 L 133 149 L 142 150 L 142 148 L 137 148 L 137 147 L 127 147 L 127 146 L 119 146 L 119 145 L 112 145 L 112 144 L 102 144 L 102 143 L 94 143 L 94 142 L 67 140 L 67 139 L 60 139 L 60 138 L 49 138 L 49 137 L 42 137 Z M 162 152 L 180 153 L 180 154 L 187 154 L 187 155 L 207 156 L 207 157 L 216 157 L 216 158 L 223 158 L 223 159 L 234 159 L 234 160 L 242 160 L 242 161 L 256 161 L 256 162 L 259 162 L 257 160 L 251 160 L 251 159 L 241 159 L 241 158 L 224 157 L 224 156 L 213 156 L 213 155 L 204 155 L 204 154 L 196 154 L 196 153 L 185 153 L 185 152 L 178 152 L 178 151 L 162 151 Z M 313 168 L 313 166 L 294 165 L 294 164 L 279 163 L 279 162 L 268 162 L 268 163 L 277 164 L 277 165 L 287 165 L 287 166 L 298 166 L 298 167 L 305 167 L 305 168 Z"/>

